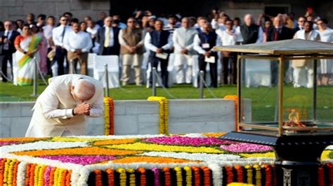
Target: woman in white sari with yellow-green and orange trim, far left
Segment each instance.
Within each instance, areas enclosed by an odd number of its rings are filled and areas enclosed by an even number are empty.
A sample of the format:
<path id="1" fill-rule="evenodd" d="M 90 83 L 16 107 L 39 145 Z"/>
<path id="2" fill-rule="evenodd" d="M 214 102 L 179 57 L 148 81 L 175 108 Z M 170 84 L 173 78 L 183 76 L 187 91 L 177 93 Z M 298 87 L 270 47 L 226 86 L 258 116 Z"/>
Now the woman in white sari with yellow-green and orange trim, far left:
<path id="1" fill-rule="evenodd" d="M 39 62 L 41 37 L 32 35 L 29 24 L 22 28 L 22 35 L 15 38 L 15 63 L 14 85 L 32 85 L 34 77 L 34 57 Z"/>

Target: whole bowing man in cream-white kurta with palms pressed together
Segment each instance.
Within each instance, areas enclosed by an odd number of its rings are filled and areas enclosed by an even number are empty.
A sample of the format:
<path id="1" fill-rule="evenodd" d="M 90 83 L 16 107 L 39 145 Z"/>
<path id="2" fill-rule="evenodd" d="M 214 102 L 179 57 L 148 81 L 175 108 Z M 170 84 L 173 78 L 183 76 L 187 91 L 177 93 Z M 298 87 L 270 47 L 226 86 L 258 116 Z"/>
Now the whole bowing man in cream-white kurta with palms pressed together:
<path id="1" fill-rule="evenodd" d="M 104 113 L 103 85 L 89 76 L 70 74 L 48 80 L 38 97 L 26 137 L 85 134 L 86 117 Z"/>

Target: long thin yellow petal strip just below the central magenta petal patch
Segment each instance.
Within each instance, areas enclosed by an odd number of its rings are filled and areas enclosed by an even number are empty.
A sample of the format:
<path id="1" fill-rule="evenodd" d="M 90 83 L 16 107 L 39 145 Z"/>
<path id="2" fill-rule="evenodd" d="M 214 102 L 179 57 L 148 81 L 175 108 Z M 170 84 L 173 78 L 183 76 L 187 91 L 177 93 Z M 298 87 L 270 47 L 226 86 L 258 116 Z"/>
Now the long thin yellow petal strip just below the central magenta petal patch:
<path id="1" fill-rule="evenodd" d="M 105 145 L 103 147 L 124 150 L 148 150 L 148 151 L 162 151 L 162 152 L 197 152 L 197 153 L 215 153 L 221 154 L 222 150 L 209 147 L 188 147 L 179 145 L 157 145 L 149 143 L 130 143 L 121 145 Z"/>

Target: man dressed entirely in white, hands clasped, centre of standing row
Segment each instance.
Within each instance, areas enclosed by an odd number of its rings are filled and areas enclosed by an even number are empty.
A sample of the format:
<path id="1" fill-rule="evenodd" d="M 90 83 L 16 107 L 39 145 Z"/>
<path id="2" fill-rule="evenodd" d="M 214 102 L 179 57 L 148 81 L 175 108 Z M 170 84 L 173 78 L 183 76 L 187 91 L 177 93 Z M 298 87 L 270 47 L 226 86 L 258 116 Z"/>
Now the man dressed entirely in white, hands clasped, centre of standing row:
<path id="1" fill-rule="evenodd" d="M 197 30 L 190 27 L 190 19 L 188 17 L 183 17 L 181 26 L 181 28 L 174 31 L 172 38 L 175 52 L 176 83 L 189 84 L 192 79 L 192 56 L 195 55 L 193 41 Z M 185 65 L 186 69 L 184 69 Z"/>

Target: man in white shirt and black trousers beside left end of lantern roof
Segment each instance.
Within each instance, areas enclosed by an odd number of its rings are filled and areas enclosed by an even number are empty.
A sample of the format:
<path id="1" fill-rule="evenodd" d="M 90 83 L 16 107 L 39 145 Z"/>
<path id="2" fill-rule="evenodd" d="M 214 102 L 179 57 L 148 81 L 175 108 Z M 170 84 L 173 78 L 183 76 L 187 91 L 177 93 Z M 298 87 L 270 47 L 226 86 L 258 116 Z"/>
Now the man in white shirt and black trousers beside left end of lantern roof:
<path id="1" fill-rule="evenodd" d="M 221 38 L 221 44 L 223 46 L 236 45 L 242 41 L 242 36 L 233 28 L 233 20 L 226 20 L 226 30 L 216 30 L 216 34 Z M 230 60 L 230 71 L 228 69 Z M 235 52 L 223 52 L 222 57 L 222 83 L 228 84 L 228 76 L 230 74 L 230 84 L 236 84 L 237 76 L 237 53 Z"/>

